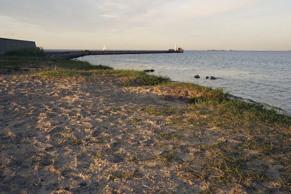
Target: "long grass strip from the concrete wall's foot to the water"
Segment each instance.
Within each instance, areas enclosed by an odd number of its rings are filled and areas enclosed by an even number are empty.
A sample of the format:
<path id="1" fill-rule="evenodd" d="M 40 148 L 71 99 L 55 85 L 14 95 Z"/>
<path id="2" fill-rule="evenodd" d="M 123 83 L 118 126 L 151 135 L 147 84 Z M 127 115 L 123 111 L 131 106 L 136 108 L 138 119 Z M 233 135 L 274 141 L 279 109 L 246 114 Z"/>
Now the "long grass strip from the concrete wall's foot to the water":
<path id="1" fill-rule="evenodd" d="M 54 77 L 84 78 L 102 75 L 124 79 L 124 86 L 155 86 L 171 82 L 171 79 L 168 77 L 149 75 L 143 71 L 114 70 L 110 66 L 92 65 L 86 61 L 45 58 L 43 55 L 29 52 L 30 50 L 9 51 L 1 56 L 1 72 L 25 70 L 31 72 L 31 76 L 47 76 L 52 79 Z"/>

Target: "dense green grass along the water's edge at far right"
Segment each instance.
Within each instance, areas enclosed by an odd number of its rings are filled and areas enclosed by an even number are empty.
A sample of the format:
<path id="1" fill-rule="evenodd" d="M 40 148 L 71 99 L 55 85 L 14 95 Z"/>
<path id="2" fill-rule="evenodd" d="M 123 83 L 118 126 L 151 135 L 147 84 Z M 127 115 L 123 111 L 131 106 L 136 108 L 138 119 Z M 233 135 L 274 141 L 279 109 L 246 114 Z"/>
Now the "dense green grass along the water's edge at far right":
<path id="1" fill-rule="evenodd" d="M 235 99 L 229 92 L 224 92 L 223 88 L 201 88 L 193 84 L 192 89 L 200 90 L 203 95 L 190 98 L 188 103 L 215 106 L 218 114 L 229 115 L 229 119 L 232 118 L 231 120 L 234 117 L 237 119 L 244 117 L 246 120 L 256 120 L 268 124 L 291 123 L 291 115 L 286 114 L 284 111 L 282 114 L 276 107 L 271 106 L 268 108 L 262 103 Z"/>

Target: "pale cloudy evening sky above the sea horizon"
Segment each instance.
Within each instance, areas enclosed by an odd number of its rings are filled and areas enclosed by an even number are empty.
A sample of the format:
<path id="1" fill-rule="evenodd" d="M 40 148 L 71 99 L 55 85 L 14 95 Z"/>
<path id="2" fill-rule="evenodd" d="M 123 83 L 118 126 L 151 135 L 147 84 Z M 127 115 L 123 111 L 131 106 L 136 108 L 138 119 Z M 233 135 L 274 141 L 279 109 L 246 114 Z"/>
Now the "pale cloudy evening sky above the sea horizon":
<path id="1" fill-rule="evenodd" d="M 0 38 L 44 49 L 291 50 L 290 0 L 0 0 Z"/>

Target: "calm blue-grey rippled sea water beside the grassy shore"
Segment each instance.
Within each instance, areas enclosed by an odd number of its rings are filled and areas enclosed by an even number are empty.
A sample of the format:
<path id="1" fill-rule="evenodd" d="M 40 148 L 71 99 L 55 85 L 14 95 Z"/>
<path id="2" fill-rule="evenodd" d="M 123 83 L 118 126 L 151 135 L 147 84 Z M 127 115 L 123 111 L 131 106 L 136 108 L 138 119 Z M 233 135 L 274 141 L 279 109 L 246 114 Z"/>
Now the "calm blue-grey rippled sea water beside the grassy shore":
<path id="1" fill-rule="evenodd" d="M 106 52 L 106 51 L 105 51 Z M 89 55 L 93 65 L 145 70 L 172 81 L 198 83 L 291 113 L 291 51 L 184 51 L 163 54 Z M 194 78 L 199 75 L 200 78 Z M 217 79 L 206 79 L 214 76 Z"/>

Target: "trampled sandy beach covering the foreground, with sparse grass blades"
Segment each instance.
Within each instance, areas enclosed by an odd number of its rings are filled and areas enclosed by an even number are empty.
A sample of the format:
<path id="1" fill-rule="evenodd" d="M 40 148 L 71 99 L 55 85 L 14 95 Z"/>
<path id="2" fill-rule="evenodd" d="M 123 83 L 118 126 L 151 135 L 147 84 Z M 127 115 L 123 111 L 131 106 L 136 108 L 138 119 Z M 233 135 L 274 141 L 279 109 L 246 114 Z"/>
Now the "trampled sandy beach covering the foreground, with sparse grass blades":
<path id="1" fill-rule="evenodd" d="M 197 91 L 123 82 L 104 75 L 84 81 L 2 74 L 0 193 L 285 192 L 276 190 L 276 175 L 286 167 L 256 158 L 256 150 L 244 151 L 252 160 L 243 168 L 268 164 L 269 179 L 228 186 L 204 170 L 212 152 L 206 147 L 223 144 L 230 151 L 251 141 L 242 132 L 247 127 L 268 137 L 289 133 L 263 123 L 217 126 L 207 120 L 212 108 L 188 113 L 186 99 Z"/>

